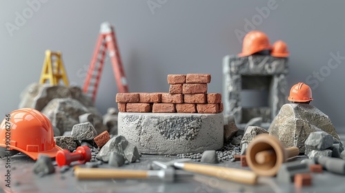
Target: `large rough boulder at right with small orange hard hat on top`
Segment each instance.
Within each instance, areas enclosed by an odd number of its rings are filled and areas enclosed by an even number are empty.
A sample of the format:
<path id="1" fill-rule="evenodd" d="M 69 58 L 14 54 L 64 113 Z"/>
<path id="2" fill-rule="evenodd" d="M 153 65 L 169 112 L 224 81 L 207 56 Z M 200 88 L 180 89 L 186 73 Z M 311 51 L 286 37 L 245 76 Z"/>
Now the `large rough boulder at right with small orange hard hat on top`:
<path id="1" fill-rule="evenodd" d="M 331 119 L 309 104 L 288 103 L 283 105 L 268 131 L 282 141 L 285 148 L 295 146 L 301 153 L 305 152 L 304 141 L 309 134 L 317 131 L 331 134 L 339 141 L 339 147 L 343 148 Z"/>

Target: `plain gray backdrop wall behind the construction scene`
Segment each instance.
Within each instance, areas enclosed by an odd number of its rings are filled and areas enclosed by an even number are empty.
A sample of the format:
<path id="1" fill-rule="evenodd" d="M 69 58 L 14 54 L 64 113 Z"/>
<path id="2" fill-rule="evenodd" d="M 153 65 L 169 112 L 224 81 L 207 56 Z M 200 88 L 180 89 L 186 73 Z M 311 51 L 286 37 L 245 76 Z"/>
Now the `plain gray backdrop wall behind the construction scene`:
<path id="1" fill-rule="evenodd" d="M 21 91 L 39 81 L 47 49 L 61 50 L 70 83 L 82 86 L 99 25 L 109 21 L 130 92 L 168 92 L 167 74 L 187 73 L 211 74 L 208 92 L 222 92 L 222 58 L 242 49 L 236 30 L 262 30 L 271 43 L 282 39 L 290 50 L 289 88 L 309 83 L 312 104 L 345 132 L 345 60 L 328 67 L 331 53 L 345 57 L 344 7 L 345 1 L 0 1 L 1 114 L 16 109 Z M 270 12 L 260 15 L 262 8 Z M 311 77 L 320 70 L 319 79 Z M 116 106 L 116 93 L 108 61 L 96 101 L 102 113 Z"/>

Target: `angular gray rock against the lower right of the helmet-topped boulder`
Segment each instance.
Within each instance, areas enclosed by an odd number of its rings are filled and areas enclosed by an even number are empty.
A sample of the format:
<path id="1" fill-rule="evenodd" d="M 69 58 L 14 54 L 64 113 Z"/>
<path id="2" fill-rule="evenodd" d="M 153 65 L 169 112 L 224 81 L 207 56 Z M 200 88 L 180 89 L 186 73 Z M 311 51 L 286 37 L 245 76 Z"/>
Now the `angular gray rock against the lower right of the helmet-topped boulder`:
<path id="1" fill-rule="evenodd" d="M 311 132 L 304 144 L 306 145 L 306 154 L 311 150 L 326 150 L 333 145 L 333 136 L 326 132 Z"/>

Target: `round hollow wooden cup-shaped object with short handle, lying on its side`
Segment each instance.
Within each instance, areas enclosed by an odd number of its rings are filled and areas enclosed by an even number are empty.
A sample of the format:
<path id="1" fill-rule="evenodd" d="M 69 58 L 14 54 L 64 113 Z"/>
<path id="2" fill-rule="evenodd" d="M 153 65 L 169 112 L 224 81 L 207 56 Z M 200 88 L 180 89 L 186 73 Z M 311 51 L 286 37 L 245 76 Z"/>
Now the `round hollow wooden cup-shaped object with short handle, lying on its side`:
<path id="1" fill-rule="evenodd" d="M 259 176 L 275 176 L 282 163 L 298 154 L 298 148 L 284 148 L 275 136 L 259 134 L 248 145 L 246 161 Z"/>

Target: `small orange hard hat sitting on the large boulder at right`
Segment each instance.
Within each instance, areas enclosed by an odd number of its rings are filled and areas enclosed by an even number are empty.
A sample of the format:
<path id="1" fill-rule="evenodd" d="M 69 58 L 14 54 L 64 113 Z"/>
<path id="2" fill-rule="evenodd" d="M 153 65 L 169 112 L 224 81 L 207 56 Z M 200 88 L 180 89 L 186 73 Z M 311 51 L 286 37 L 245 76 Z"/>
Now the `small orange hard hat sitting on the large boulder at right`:
<path id="1" fill-rule="evenodd" d="M 288 101 L 291 102 L 308 102 L 313 101 L 311 88 L 305 83 L 297 83 L 290 90 Z"/>

